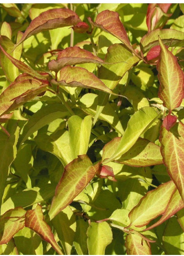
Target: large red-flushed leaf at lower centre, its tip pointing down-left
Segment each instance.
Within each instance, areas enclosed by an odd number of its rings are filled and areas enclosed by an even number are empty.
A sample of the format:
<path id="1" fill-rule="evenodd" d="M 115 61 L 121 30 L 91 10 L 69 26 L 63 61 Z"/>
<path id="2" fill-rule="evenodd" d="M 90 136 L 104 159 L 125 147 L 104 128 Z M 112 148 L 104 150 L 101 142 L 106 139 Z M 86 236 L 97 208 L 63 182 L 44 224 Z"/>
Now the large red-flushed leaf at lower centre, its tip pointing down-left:
<path id="1" fill-rule="evenodd" d="M 50 218 L 53 219 L 61 210 L 85 188 L 99 170 L 99 164 L 93 165 L 88 155 L 79 155 L 65 166 L 55 196 L 52 201 Z"/>

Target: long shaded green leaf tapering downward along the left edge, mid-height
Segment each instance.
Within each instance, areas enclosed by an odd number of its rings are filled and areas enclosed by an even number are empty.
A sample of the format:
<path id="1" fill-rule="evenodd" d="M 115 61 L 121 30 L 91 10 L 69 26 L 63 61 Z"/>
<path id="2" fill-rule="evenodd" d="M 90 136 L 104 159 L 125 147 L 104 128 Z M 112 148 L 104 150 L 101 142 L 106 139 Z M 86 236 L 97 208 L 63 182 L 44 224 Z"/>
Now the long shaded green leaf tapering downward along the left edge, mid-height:
<path id="1" fill-rule="evenodd" d="M 16 144 L 20 130 L 14 123 L 10 123 L 10 125 L 11 127 L 9 129 L 7 128 L 10 137 L 3 131 L 0 131 L 0 206 L 8 177 L 9 166 L 16 157 Z"/>

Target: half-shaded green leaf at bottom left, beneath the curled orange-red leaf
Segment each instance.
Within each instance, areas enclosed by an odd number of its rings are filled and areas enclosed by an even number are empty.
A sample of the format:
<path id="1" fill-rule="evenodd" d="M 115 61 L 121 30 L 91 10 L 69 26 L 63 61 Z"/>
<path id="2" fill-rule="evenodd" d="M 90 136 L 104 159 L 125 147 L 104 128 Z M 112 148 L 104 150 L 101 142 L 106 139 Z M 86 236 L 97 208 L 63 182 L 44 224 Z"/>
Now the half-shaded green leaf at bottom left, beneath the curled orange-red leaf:
<path id="1" fill-rule="evenodd" d="M 24 227 L 14 236 L 16 247 L 23 255 L 42 255 L 42 239 L 30 228 Z"/>

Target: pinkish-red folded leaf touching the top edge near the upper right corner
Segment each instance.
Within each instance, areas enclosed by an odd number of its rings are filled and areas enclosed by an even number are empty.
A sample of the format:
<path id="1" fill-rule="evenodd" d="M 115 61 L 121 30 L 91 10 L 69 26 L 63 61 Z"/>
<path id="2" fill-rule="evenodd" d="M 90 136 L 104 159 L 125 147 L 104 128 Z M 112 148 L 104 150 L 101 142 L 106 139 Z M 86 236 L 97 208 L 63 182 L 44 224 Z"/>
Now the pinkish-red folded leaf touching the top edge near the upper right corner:
<path id="1" fill-rule="evenodd" d="M 167 19 L 171 16 L 171 14 L 167 14 L 170 5 L 149 4 L 146 14 L 146 24 L 149 32 L 165 25 Z"/>

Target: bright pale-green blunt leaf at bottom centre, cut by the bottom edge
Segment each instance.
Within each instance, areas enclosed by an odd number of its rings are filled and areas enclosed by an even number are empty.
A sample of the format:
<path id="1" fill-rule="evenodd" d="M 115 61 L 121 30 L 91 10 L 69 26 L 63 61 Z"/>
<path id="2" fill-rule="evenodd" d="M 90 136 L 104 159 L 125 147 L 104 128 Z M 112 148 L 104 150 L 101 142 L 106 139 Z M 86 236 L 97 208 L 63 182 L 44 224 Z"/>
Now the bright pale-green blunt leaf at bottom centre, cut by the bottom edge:
<path id="1" fill-rule="evenodd" d="M 113 232 L 107 222 L 91 222 L 87 231 L 87 236 L 90 255 L 104 255 L 105 248 L 113 240 Z"/>

